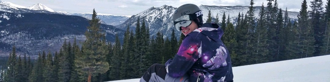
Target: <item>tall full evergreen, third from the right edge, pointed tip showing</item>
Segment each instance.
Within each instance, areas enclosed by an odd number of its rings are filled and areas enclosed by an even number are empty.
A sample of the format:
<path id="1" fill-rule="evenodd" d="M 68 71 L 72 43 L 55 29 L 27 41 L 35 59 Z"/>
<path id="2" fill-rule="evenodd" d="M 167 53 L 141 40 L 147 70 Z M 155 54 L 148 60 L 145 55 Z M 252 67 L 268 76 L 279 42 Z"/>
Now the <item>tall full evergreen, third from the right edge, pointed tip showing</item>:
<path id="1" fill-rule="evenodd" d="M 313 27 L 310 27 L 308 14 L 307 14 L 307 2 L 306 0 L 303 1 L 301 5 L 301 9 L 298 14 L 298 37 L 299 43 L 298 46 L 300 47 L 300 56 L 303 57 L 310 57 L 314 52 L 314 30 Z"/>

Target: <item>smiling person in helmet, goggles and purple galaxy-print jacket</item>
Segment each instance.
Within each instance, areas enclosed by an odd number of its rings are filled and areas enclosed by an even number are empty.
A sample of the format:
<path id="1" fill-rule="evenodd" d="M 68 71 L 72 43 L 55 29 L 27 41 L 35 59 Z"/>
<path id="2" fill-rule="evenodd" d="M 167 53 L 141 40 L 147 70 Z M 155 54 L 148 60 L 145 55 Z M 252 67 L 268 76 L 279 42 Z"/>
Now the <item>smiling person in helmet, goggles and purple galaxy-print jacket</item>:
<path id="1" fill-rule="evenodd" d="M 165 65 L 151 65 L 140 82 L 232 82 L 222 29 L 217 24 L 203 24 L 203 13 L 194 4 L 176 9 L 173 21 L 175 29 L 185 35 L 179 51 Z"/>

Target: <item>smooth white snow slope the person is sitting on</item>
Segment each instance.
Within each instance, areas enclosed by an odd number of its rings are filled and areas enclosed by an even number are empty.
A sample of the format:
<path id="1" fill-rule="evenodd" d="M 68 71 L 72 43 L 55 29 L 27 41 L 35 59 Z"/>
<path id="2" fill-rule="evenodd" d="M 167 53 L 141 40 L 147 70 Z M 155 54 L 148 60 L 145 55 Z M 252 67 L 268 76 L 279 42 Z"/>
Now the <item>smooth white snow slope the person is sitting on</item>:
<path id="1" fill-rule="evenodd" d="M 330 55 L 233 67 L 233 74 L 235 82 L 330 82 Z"/>

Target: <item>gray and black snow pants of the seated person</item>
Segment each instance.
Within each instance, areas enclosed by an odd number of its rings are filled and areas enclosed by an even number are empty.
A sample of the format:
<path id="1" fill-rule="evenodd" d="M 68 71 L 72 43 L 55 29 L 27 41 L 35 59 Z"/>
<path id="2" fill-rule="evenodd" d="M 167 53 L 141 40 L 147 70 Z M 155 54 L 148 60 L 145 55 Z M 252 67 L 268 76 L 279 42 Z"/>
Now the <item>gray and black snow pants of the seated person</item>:
<path id="1" fill-rule="evenodd" d="M 153 64 L 143 74 L 140 82 L 189 82 L 189 76 L 185 74 L 180 78 L 173 78 L 167 74 L 164 65 Z"/>

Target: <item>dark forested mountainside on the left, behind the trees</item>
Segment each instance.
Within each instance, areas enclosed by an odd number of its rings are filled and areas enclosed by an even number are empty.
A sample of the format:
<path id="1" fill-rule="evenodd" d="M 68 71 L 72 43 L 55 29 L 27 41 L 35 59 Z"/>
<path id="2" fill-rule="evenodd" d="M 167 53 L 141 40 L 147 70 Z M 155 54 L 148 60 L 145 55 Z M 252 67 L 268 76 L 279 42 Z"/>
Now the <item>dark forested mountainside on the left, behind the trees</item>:
<path id="1" fill-rule="evenodd" d="M 63 41 L 77 43 L 85 40 L 89 20 L 81 16 L 0 11 L 0 56 L 8 56 L 15 45 L 16 53 L 37 55 L 41 51 L 59 51 Z M 108 42 L 115 42 L 116 34 L 122 43 L 124 32 L 111 25 L 101 24 Z"/>

